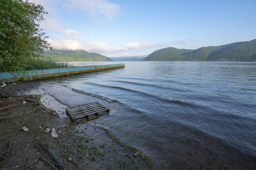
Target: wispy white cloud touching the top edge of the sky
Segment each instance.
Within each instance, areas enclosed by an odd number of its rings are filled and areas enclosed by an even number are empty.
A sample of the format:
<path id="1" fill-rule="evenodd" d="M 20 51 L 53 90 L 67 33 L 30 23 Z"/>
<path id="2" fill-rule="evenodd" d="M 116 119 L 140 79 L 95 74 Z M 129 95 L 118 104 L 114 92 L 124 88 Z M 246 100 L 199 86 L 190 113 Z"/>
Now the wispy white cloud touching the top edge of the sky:
<path id="1" fill-rule="evenodd" d="M 66 7 L 75 10 L 87 11 L 91 15 L 104 15 L 108 19 L 113 19 L 118 15 L 120 6 L 108 0 L 67 0 Z"/>

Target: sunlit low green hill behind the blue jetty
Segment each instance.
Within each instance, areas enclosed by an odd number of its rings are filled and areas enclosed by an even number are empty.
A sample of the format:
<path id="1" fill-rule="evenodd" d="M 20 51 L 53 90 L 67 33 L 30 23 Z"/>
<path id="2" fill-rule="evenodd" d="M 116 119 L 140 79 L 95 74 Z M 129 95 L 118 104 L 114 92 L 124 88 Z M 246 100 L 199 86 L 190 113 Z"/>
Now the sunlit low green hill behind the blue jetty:
<path id="1" fill-rule="evenodd" d="M 47 50 L 44 51 L 46 58 L 54 61 L 112 61 L 111 58 L 87 52 L 85 50 Z"/>

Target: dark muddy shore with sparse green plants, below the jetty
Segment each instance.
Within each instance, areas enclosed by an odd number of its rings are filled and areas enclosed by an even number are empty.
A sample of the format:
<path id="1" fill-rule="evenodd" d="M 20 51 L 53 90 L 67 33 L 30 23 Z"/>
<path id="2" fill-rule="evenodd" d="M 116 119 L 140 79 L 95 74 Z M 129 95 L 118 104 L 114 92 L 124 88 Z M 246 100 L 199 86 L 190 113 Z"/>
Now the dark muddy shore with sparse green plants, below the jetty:
<path id="1" fill-rule="evenodd" d="M 3 165 L 3 170 L 50 168 L 43 160 L 35 161 L 41 154 L 44 159 L 56 165 L 51 156 L 42 149 L 39 144 L 41 140 L 54 150 L 67 170 L 78 166 L 79 169 L 87 170 L 151 169 L 146 163 L 148 160 L 145 162 L 141 157 L 143 155 L 134 157 L 136 150 L 115 141 L 96 123 L 94 126 L 88 123 L 75 124 L 68 118 L 54 115 L 54 110 L 47 109 L 38 102 L 38 95 L 17 95 L 17 92 L 24 94 L 36 89 L 38 84 L 33 81 L 16 82 L 8 84 L 0 91 L 0 108 L 19 100 L 26 101 L 24 105 L 0 111 L 0 145 L 3 146 L 0 152 L 3 153 L 8 148 L 8 142 L 13 141 L 13 148 L 5 155 L 6 163 L 0 164 Z M 28 131 L 22 130 L 25 126 Z M 55 128 L 59 137 L 53 138 L 50 133 L 44 132 L 47 127 Z"/>

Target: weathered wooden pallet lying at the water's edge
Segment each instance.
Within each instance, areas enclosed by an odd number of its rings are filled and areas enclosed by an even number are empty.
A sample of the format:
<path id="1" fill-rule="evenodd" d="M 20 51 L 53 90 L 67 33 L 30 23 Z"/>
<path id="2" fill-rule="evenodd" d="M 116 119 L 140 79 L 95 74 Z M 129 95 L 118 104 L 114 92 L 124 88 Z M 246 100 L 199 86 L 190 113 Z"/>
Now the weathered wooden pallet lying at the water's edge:
<path id="1" fill-rule="evenodd" d="M 109 108 L 103 106 L 100 102 L 91 102 L 66 109 L 67 115 L 73 122 L 88 118 L 90 115 L 97 115 L 103 111 L 109 112 Z"/>

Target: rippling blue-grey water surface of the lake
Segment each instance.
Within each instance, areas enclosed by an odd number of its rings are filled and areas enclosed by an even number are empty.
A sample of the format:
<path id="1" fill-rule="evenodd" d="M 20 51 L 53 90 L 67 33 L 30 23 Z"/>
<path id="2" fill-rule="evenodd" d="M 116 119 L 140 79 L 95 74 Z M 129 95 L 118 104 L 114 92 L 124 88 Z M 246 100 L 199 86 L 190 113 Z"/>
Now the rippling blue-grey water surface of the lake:
<path id="1" fill-rule="evenodd" d="M 42 83 L 68 106 L 102 100 L 97 125 L 156 169 L 256 167 L 256 62 L 125 62 Z"/>

